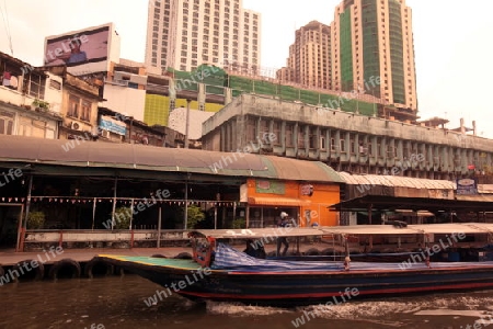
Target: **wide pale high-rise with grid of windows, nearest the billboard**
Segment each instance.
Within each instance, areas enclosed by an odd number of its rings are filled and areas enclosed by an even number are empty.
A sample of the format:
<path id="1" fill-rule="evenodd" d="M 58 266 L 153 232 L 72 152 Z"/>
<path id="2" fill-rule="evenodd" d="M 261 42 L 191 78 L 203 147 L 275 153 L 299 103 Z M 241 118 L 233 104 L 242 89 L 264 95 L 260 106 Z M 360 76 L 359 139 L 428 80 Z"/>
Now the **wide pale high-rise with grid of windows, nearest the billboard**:
<path id="1" fill-rule="evenodd" d="M 241 0 L 150 0 L 146 66 L 191 71 L 200 64 L 256 69 L 261 15 Z"/>

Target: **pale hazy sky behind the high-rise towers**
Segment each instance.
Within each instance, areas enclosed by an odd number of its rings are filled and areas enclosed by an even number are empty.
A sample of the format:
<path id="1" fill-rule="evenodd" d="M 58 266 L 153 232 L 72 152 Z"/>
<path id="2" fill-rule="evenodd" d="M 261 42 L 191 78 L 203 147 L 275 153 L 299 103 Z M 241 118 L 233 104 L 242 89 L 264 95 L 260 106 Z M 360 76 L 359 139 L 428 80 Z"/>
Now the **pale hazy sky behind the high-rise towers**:
<path id="1" fill-rule="evenodd" d="M 317 20 L 330 24 L 340 0 L 243 0 L 262 15 L 261 66 L 286 64 L 295 31 Z M 147 0 L 0 0 L 0 52 L 43 64 L 48 35 L 113 22 L 121 57 L 144 61 Z M 406 0 L 413 11 L 419 115 L 475 120 L 478 135 L 493 138 L 493 1 Z M 9 37 L 10 36 L 10 37 Z"/>

